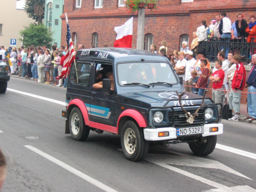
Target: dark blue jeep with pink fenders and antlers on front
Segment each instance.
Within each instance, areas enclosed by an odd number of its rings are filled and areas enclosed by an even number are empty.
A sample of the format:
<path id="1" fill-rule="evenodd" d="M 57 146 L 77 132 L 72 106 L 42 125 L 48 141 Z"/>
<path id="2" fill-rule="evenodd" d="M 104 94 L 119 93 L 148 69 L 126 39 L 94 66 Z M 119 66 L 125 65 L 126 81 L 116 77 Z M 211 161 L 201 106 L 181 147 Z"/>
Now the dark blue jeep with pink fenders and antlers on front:
<path id="1" fill-rule="evenodd" d="M 65 133 L 78 141 L 86 140 L 90 130 L 119 134 L 131 161 L 144 159 L 150 142 L 188 143 L 196 155 L 208 155 L 223 133 L 217 104 L 183 92 L 181 82 L 167 58 L 155 53 L 80 50 L 68 78 L 68 106 L 62 111 Z M 93 88 L 95 83 L 101 89 Z"/>

